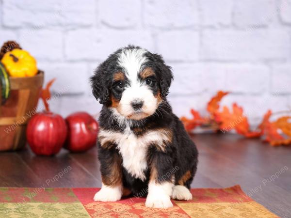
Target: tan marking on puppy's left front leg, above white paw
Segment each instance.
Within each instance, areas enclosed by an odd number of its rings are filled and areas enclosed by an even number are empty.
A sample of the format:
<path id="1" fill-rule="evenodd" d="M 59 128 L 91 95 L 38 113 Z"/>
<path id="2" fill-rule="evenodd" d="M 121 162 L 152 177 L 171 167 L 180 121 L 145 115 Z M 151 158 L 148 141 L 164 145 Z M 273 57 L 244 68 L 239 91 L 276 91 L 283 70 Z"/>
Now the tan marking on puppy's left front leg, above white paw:
<path id="1" fill-rule="evenodd" d="M 121 157 L 114 154 L 113 161 L 107 163 L 107 168 L 110 171 L 108 175 L 102 175 L 102 183 L 106 186 L 121 186 L 122 185 L 122 169 Z"/>

